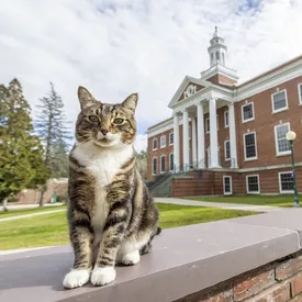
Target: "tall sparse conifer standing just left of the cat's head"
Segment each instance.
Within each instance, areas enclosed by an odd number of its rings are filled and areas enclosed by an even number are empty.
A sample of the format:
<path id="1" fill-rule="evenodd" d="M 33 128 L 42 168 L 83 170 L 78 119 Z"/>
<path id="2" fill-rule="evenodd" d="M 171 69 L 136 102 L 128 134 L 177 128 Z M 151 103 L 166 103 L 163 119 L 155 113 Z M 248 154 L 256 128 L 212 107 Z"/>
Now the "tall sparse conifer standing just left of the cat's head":
<path id="1" fill-rule="evenodd" d="M 40 99 L 40 113 L 35 120 L 35 131 L 44 145 L 45 166 L 55 178 L 67 177 L 68 174 L 68 139 L 71 139 L 68 128 L 69 122 L 64 114 L 64 103 L 51 82 L 51 91 Z M 46 187 L 41 190 L 40 205 Z"/>

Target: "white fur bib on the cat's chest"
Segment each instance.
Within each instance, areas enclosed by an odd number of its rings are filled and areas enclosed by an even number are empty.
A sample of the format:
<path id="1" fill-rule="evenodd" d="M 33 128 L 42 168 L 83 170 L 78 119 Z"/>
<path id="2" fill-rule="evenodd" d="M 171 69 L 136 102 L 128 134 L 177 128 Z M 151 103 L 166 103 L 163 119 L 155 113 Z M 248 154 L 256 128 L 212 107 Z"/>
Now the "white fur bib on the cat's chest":
<path id="1" fill-rule="evenodd" d="M 79 146 L 75 150 L 75 157 L 81 165 L 86 166 L 86 169 L 94 178 L 94 211 L 91 223 L 97 237 L 101 236 L 109 214 L 105 186 L 112 182 L 114 176 L 132 155 L 132 146 L 114 150 L 100 150 L 94 146 Z"/>

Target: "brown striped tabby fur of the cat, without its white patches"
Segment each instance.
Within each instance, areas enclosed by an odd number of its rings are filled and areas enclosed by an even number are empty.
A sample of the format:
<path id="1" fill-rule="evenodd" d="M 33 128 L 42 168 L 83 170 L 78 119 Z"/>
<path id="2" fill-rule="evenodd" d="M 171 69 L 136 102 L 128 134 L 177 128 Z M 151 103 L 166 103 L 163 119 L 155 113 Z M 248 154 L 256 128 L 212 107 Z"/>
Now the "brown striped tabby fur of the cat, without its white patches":
<path id="1" fill-rule="evenodd" d="M 77 148 L 86 146 L 85 144 L 90 146 L 91 143 L 96 158 L 104 152 L 110 154 L 111 148 L 115 147 L 111 147 L 110 141 L 100 139 L 100 132 L 115 135 L 122 146 L 132 146 L 136 134 L 134 112 L 137 94 L 130 96 L 121 104 L 104 104 L 97 101 L 87 89 L 79 87 L 78 97 L 81 112 L 76 124 L 77 143 L 69 156 L 68 182 L 68 222 L 75 253 L 74 269 L 114 267 L 115 262 L 123 259 L 123 246 L 127 246 L 127 249 L 128 246 L 139 246 L 141 255 L 149 251 L 150 242 L 160 232 L 157 226 L 158 210 L 137 169 L 133 147 L 131 156 L 121 164 L 110 183 L 103 188 L 96 188 L 96 175 L 79 160 Z M 91 122 L 91 115 L 99 120 L 93 118 Z M 114 123 L 119 119 L 123 120 L 122 124 Z M 101 193 L 101 199 L 98 193 Z M 94 227 L 92 223 L 97 200 L 104 204 L 104 213 L 100 215 L 104 221 L 98 222 L 101 228 Z"/>

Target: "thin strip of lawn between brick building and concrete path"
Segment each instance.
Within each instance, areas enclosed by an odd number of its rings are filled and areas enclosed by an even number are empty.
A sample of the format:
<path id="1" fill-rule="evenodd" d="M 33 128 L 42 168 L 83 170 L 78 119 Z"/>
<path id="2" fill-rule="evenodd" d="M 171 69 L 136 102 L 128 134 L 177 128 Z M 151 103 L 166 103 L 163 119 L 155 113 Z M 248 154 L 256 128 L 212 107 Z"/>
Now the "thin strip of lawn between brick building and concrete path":
<path id="1" fill-rule="evenodd" d="M 198 201 L 209 202 L 225 202 L 237 204 L 255 204 L 255 205 L 271 205 L 271 206 L 293 206 L 292 195 L 236 195 L 236 197 L 211 197 L 211 198 L 186 198 Z M 300 195 L 302 203 L 302 195 Z"/>

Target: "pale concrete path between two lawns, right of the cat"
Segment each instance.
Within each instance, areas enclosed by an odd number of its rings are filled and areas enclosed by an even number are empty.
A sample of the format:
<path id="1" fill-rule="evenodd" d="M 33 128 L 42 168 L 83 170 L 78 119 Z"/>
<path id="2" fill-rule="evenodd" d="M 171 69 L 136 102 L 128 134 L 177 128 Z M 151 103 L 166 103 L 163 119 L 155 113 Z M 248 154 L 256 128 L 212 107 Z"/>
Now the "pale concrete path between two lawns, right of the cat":
<path id="1" fill-rule="evenodd" d="M 206 206 L 206 208 L 220 208 L 220 209 L 228 209 L 228 210 L 241 210 L 241 211 L 265 212 L 265 213 L 287 210 L 287 208 L 278 208 L 278 206 L 269 206 L 269 205 L 205 202 L 205 201 L 195 201 L 195 200 L 187 200 L 187 199 L 178 199 L 178 198 L 155 198 L 154 200 L 156 202 L 160 202 L 160 203 L 172 203 L 172 204 Z"/>

